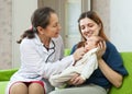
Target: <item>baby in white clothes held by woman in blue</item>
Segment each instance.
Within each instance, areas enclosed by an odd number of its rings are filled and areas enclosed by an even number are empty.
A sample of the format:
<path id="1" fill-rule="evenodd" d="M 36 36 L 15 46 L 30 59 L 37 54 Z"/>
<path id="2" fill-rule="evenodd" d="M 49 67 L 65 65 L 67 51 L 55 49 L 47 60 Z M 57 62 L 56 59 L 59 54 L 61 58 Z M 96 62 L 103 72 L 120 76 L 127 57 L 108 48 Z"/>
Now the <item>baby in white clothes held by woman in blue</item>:
<path id="1" fill-rule="evenodd" d="M 88 79 L 98 68 L 96 52 L 98 51 L 97 45 L 100 40 L 103 39 L 99 36 L 91 36 L 87 39 L 87 42 L 80 42 L 77 47 L 85 47 L 85 50 L 87 52 L 82 56 L 80 60 L 66 68 L 64 71 L 62 71 L 62 73 L 51 75 L 51 84 L 56 87 L 62 87 L 64 86 L 64 84 L 66 84 L 68 80 L 74 77 L 75 73 L 79 73 L 84 80 Z"/>

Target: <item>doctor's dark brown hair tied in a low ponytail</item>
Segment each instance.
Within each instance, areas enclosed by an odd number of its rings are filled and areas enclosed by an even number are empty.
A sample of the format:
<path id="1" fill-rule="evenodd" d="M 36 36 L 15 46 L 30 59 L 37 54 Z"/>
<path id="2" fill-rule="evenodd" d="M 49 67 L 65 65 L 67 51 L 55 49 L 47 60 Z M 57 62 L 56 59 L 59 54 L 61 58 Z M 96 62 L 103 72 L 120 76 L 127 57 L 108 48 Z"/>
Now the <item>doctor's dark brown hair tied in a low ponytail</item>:
<path id="1" fill-rule="evenodd" d="M 18 44 L 21 44 L 22 39 L 28 38 L 34 38 L 35 34 L 38 34 L 37 26 L 41 26 L 43 28 L 46 28 L 50 24 L 51 13 L 55 13 L 55 11 L 48 7 L 38 8 L 34 11 L 34 13 L 31 16 L 31 28 L 26 30 L 22 35 L 20 40 L 18 40 Z"/>

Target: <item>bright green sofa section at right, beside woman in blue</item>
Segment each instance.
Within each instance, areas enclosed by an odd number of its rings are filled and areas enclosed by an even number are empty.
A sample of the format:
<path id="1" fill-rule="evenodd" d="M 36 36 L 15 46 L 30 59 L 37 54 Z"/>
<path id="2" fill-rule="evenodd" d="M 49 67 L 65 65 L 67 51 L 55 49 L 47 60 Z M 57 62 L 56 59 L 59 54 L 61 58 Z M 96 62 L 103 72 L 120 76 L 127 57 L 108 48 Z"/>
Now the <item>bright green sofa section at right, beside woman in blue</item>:
<path id="1" fill-rule="evenodd" d="M 129 72 L 128 77 L 124 77 L 123 84 L 120 89 L 112 86 L 109 94 L 132 94 L 132 52 L 121 52 L 123 63 Z"/>

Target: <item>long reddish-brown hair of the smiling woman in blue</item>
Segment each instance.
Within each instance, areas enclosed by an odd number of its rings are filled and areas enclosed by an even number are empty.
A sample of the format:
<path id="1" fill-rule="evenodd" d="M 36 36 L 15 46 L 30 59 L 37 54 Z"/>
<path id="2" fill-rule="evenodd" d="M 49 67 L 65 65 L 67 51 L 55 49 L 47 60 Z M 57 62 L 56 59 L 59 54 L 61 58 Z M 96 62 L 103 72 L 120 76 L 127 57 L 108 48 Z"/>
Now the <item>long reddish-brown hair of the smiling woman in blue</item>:
<path id="1" fill-rule="evenodd" d="M 94 11 L 87 11 L 87 12 L 84 12 L 84 13 L 80 14 L 80 16 L 79 16 L 79 19 L 78 19 L 78 27 L 79 27 L 80 34 L 81 34 L 81 31 L 80 31 L 80 24 L 79 24 L 79 22 L 80 22 L 80 20 L 82 20 L 82 19 L 85 19 L 85 17 L 88 17 L 88 19 L 95 21 L 98 25 L 100 25 L 101 28 L 100 28 L 100 31 L 99 31 L 99 36 L 101 36 L 105 40 L 108 40 L 108 38 L 107 38 L 106 34 L 105 34 L 105 31 L 103 31 L 102 21 L 101 21 L 101 19 L 98 16 L 98 14 L 97 14 L 96 12 L 94 12 Z M 82 34 L 81 34 L 81 36 L 82 36 Z M 84 38 L 84 40 L 86 40 L 85 37 L 82 37 L 82 38 Z"/>

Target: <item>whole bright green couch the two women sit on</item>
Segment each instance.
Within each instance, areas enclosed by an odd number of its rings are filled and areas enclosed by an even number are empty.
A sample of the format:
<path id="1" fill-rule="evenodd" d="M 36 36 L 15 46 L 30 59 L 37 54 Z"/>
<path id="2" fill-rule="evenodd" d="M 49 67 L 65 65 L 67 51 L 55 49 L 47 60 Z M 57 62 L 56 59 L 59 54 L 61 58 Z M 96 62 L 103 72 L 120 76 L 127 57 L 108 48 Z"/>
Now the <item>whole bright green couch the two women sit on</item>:
<path id="1" fill-rule="evenodd" d="M 68 49 L 65 50 L 65 56 L 67 55 L 69 55 Z M 123 84 L 120 89 L 112 86 L 109 94 L 132 94 L 132 52 L 121 52 L 121 57 L 123 58 L 123 63 L 129 75 L 124 77 Z M 16 70 L 18 69 L 0 70 L 0 94 L 4 94 L 7 83 Z"/>

